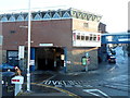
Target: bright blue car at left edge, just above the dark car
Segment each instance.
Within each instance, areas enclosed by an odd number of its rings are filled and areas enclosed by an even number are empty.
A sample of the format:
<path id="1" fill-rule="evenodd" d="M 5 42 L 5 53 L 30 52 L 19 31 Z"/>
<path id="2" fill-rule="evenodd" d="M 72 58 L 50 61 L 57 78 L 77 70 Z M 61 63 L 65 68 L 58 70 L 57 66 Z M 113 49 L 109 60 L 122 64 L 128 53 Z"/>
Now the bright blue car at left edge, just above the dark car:
<path id="1" fill-rule="evenodd" d="M 8 70 L 10 70 L 11 72 L 14 72 L 15 71 L 15 65 L 11 65 L 11 64 L 8 64 L 8 63 L 2 63 L 0 65 L 0 71 L 6 72 Z"/>

